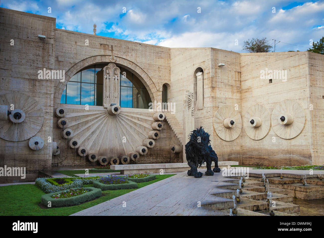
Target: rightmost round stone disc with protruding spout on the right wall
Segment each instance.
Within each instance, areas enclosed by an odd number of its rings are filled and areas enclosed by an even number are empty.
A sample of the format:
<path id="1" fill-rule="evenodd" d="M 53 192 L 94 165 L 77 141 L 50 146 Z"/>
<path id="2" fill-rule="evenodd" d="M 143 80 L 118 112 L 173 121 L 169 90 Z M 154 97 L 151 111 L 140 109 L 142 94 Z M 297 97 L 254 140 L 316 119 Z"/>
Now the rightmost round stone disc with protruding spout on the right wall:
<path id="1" fill-rule="evenodd" d="M 272 129 L 283 139 L 293 139 L 298 136 L 304 129 L 305 122 L 305 109 L 293 99 L 281 101 L 272 111 Z"/>

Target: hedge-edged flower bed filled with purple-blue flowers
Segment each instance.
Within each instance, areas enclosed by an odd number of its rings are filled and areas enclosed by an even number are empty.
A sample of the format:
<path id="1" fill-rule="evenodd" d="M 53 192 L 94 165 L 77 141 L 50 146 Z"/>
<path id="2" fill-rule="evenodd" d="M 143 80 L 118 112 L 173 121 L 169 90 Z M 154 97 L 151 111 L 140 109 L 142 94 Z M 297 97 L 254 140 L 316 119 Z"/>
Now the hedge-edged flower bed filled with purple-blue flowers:
<path id="1" fill-rule="evenodd" d="M 100 188 L 101 190 L 131 189 L 137 188 L 137 183 L 128 181 L 127 176 L 110 175 L 94 181 L 93 187 Z"/>

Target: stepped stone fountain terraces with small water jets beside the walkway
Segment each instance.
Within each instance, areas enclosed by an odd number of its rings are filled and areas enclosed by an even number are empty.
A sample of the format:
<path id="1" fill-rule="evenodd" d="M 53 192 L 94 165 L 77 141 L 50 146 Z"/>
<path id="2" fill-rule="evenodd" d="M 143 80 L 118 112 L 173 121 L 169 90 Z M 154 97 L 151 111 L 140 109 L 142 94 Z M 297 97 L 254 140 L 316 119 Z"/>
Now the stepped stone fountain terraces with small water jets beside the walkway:
<path id="1" fill-rule="evenodd" d="M 232 196 L 236 195 L 238 181 L 240 176 L 229 176 L 218 183 L 209 195 L 202 201 L 202 207 L 207 210 L 218 210 L 223 214 L 229 214 L 229 208 L 233 208 Z M 237 203 L 238 216 L 269 216 L 269 203 L 267 202 L 267 194 L 263 186 L 262 178 L 259 176 L 250 176 L 246 179 L 240 193 L 241 201 Z M 269 189 L 272 192 L 272 201 L 274 202 L 271 210 L 275 216 L 294 216 L 299 215 L 299 205 L 293 204 L 293 197 L 289 189 L 284 185 L 297 182 L 298 177 L 290 177 L 279 179 L 277 175 L 268 177 L 272 181 L 269 184 Z M 318 179 L 309 181 L 313 183 L 321 183 Z M 277 185 L 277 186 L 274 186 Z"/>

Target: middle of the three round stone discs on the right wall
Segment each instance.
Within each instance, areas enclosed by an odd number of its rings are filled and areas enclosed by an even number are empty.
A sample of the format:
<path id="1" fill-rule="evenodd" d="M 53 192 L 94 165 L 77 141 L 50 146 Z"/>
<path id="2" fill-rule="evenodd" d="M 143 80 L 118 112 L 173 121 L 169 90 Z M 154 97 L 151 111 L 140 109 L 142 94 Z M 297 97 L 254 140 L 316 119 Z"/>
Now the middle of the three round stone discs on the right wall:
<path id="1" fill-rule="evenodd" d="M 246 134 L 253 140 L 261 140 L 270 131 L 271 117 L 267 108 L 260 104 L 251 106 L 244 118 L 243 126 Z"/>

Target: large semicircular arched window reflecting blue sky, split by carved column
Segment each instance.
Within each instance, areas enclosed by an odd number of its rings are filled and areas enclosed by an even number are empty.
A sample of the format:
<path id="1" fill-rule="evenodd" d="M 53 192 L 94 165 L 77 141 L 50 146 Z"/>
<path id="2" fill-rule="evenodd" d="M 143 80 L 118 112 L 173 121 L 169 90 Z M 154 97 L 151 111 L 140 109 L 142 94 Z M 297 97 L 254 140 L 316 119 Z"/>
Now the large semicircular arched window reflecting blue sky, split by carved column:
<path id="1" fill-rule="evenodd" d="M 62 104 L 102 106 L 103 72 L 107 64 L 95 64 L 77 72 L 66 84 Z M 151 97 L 141 80 L 132 72 L 121 69 L 120 106 L 124 108 L 148 108 Z"/>

